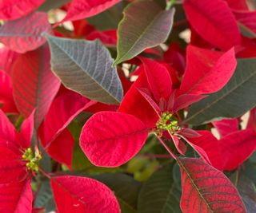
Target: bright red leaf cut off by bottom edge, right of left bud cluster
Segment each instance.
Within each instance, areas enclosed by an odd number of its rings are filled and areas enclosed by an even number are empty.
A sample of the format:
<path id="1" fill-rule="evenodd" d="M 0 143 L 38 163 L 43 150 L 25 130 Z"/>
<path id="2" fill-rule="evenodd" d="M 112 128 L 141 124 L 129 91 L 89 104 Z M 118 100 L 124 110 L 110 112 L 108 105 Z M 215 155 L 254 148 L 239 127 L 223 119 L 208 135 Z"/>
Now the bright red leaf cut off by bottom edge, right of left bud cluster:
<path id="1" fill-rule="evenodd" d="M 118 201 L 103 183 L 78 176 L 51 179 L 54 200 L 59 213 L 119 213 Z"/>

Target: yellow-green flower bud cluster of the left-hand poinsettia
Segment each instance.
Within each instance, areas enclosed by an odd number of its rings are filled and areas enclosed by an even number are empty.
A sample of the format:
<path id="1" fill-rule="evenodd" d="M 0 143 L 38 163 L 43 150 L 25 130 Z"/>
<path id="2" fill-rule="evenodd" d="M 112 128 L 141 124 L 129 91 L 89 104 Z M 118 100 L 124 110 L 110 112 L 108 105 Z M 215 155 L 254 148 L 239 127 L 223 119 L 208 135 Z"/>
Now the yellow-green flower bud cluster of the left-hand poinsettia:
<path id="1" fill-rule="evenodd" d="M 32 152 L 31 148 L 27 148 L 22 155 L 22 159 L 26 160 L 26 168 L 28 170 L 38 172 L 39 161 L 42 159 L 40 152 Z"/>

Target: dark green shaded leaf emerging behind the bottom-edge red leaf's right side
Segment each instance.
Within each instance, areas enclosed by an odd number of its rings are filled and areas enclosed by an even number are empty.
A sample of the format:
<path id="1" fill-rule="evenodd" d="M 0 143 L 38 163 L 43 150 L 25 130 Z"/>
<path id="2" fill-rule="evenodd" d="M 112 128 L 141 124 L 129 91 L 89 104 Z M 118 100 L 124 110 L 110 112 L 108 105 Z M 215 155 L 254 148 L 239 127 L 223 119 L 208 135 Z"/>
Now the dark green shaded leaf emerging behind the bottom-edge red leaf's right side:
<path id="1" fill-rule="evenodd" d="M 137 212 L 138 192 L 141 183 L 124 174 L 103 174 L 94 176 L 94 179 L 105 183 L 114 191 L 123 213 Z"/>

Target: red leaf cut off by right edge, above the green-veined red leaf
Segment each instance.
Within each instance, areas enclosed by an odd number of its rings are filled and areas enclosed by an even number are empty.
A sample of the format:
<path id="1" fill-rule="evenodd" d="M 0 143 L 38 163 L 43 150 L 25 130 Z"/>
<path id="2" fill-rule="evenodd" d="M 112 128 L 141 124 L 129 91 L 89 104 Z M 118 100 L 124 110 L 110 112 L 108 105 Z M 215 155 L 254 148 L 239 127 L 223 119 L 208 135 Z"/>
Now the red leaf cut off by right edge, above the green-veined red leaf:
<path id="1" fill-rule="evenodd" d="M 224 170 L 232 170 L 247 160 L 256 150 L 256 132 L 252 129 L 230 133 L 219 140 Z"/>

